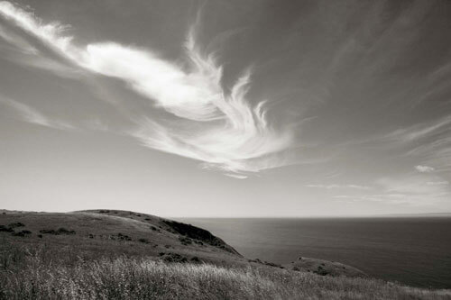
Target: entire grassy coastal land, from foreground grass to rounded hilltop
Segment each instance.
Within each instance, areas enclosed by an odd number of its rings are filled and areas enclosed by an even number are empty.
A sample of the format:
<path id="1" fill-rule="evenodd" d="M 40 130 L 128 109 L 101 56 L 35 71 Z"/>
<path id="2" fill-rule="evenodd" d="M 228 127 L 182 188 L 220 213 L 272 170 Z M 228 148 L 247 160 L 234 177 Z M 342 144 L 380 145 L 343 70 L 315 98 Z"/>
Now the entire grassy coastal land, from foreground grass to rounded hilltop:
<path id="1" fill-rule="evenodd" d="M 451 299 L 318 259 L 248 260 L 148 214 L 5 212 L 0 225 L 0 299 Z"/>

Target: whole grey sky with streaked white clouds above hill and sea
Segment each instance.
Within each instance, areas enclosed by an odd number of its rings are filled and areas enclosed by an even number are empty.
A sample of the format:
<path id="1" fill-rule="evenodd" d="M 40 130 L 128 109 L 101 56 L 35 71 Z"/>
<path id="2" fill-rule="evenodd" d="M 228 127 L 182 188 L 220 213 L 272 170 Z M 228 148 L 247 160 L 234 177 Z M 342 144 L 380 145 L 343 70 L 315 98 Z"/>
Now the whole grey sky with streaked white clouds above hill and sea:
<path id="1" fill-rule="evenodd" d="M 0 206 L 451 212 L 451 2 L 0 1 Z"/>

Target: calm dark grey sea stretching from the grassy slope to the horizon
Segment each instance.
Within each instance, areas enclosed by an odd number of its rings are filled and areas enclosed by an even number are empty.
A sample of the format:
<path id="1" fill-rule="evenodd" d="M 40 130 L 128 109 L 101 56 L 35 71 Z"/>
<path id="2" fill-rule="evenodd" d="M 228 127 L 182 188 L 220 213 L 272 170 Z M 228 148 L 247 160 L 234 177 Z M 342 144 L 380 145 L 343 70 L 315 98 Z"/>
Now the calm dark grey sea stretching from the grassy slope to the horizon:
<path id="1" fill-rule="evenodd" d="M 249 259 L 327 259 L 409 286 L 451 288 L 451 217 L 179 220 Z"/>

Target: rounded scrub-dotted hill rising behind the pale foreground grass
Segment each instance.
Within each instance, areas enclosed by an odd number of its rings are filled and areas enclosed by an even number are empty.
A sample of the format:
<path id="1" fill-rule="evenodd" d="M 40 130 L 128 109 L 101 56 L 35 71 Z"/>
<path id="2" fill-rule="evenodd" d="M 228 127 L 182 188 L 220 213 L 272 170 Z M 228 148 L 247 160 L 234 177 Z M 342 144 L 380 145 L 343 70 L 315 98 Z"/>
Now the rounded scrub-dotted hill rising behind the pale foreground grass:
<path id="1" fill-rule="evenodd" d="M 115 210 L 0 214 L 0 239 L 77 251 L 86 258 L 146 256 L 163 260 L 240 264 L 225 241 L 198 227 L 150 214 Z"/>

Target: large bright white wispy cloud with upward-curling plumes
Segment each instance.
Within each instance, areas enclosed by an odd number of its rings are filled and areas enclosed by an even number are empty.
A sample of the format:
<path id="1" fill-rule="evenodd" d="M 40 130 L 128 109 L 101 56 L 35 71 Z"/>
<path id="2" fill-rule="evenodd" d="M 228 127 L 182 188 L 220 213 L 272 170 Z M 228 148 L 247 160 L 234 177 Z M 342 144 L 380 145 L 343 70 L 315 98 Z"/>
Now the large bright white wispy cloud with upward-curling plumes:
<path id="1" fill-rule="evenodd" d="M 127 132 L 146 147 L 198 159 L 205 168 L 232 172 L 235 177 L 291 163 L 283 156 L 293 143 L 290 128 L 274 128 L 265 101 L 251 105 L 247 97 L 251 71 L 244 70 L 233 86 L 225 88 L 223 68 L 198 45 L 196 26 L 184 44 L 186 66 L 180 66 L 152 50 L 115 42 L 79 47 L 65 34 L 68 26 L 44 23 L 9 2 L 0 2 L 0 15 L 72 65 L 119 78 L 169 113 L 170 121 L 148 115 L 133 118 L 135 129 Z"/>

